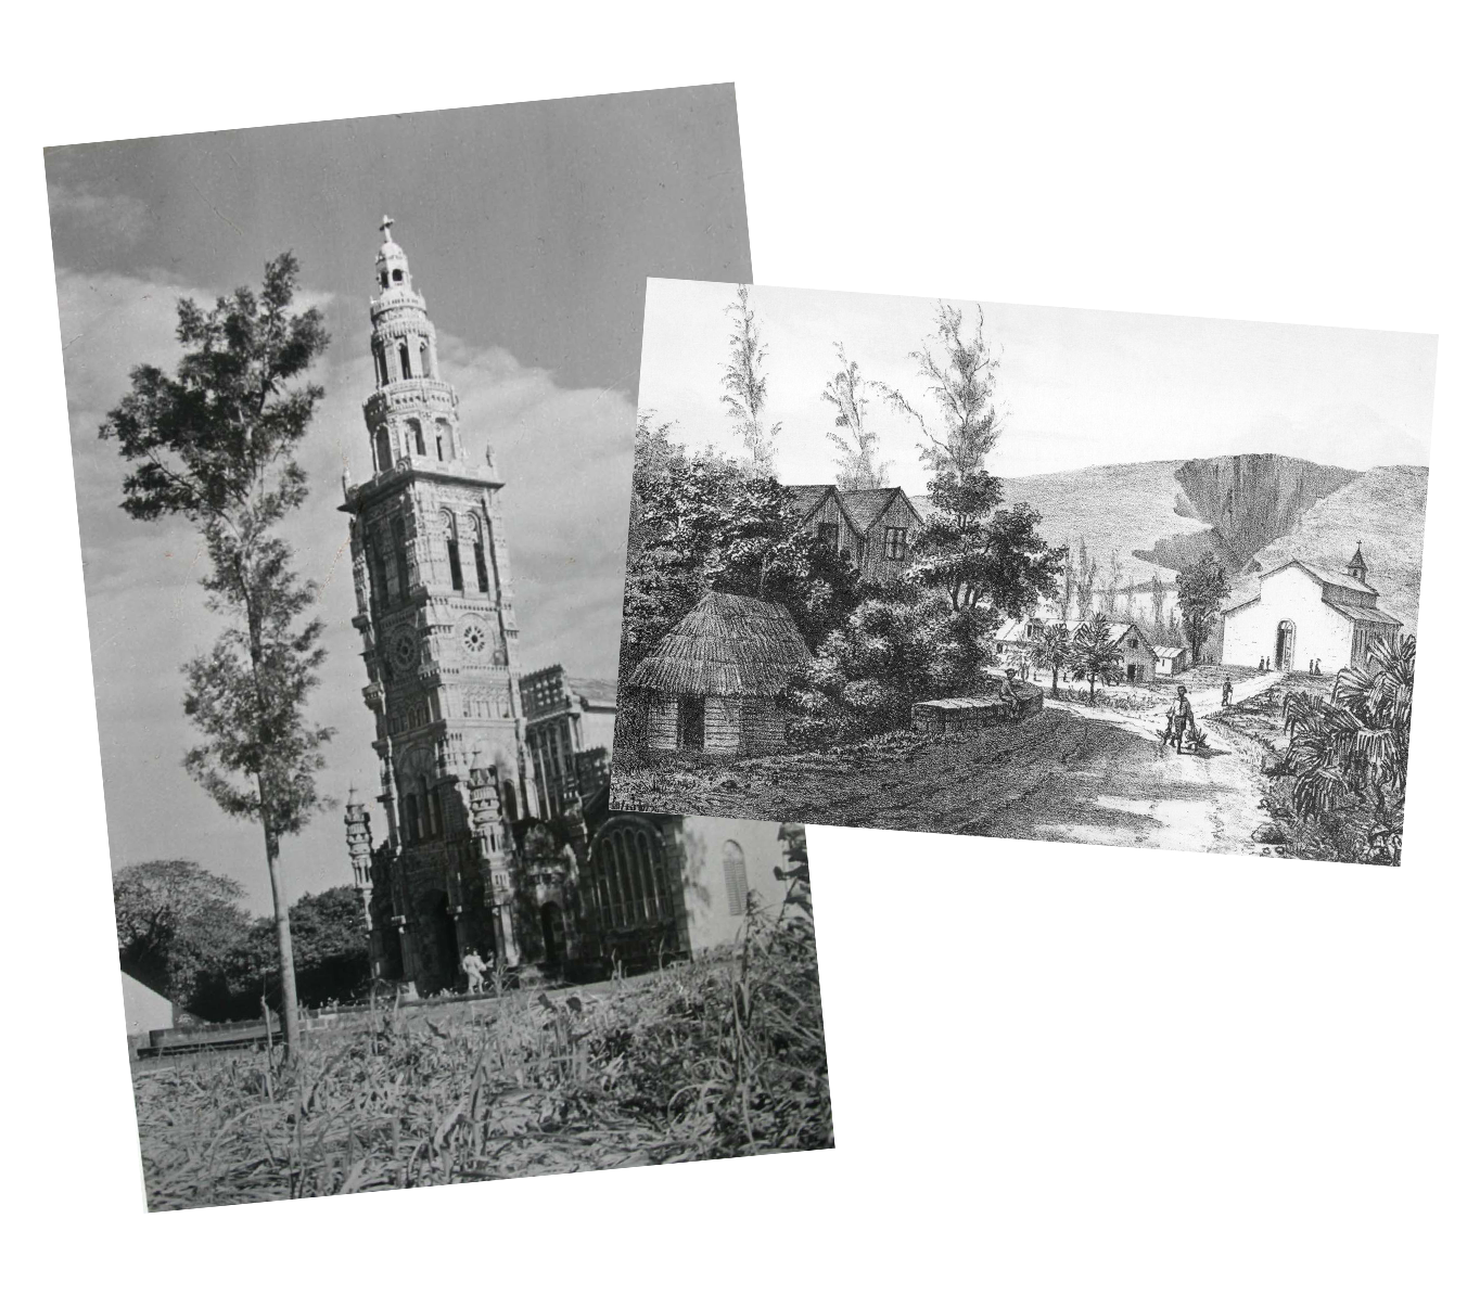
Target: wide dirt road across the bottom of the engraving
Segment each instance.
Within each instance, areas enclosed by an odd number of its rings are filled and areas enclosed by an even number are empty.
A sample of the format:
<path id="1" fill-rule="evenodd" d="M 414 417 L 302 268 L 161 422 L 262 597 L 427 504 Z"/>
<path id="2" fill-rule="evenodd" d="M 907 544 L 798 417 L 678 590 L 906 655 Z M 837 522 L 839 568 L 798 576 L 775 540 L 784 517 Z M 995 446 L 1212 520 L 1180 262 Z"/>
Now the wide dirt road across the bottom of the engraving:
<path id="1" fill-rule="evenodd" d="M 1234 699 L 1279 682 L 1259 675 Z M 829 752 L 623 771 L 620 804 L 651 811 L 1054 836 L 1163 850 L 1249 850 L 1259 749 L 1217 722 L 1218 690 L 1190 694 L 1209 749 L 1163 749 L 1165 716 L 1048 700 L 1021 725 L 891 734 Z M 629 799 L 630 798 L 630 799 Z M 614 796 L 616 799 L 616 796 Z"/>

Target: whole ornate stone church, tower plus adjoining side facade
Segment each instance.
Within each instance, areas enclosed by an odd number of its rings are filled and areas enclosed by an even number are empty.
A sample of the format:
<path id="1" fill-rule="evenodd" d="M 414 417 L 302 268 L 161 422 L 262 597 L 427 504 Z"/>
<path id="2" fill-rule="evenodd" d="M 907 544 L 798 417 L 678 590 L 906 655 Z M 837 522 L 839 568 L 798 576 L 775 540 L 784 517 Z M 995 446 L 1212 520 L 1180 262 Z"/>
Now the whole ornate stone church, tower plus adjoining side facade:
<path id="1" fill-rule="evenodd" d="M 382 229 L 364 403 L 373 474 L 346 474 L 342 505 L 385 811 L 374 844 L 351 793 L 345 833 L 376 975 L 420 995 L 460 989 L 460 961 L 477 952 L 521 975 L 582 980 L 731 938 L 741 913 L 715 909 L 734 889 L 709 875 L 718 844 L 685 844 L 681 818 L 607 811 L 592 739 L 605 736 L 608 685 L 552 667 L 521 687 L 502 482 L 491 451 L 468 451 L 426 303 L 389 219 Z M 561 761 L 543 734 L 531 744 L 525 704 L 537 725 L 570 728 Z M 536 747 L 549 764 L 539 783 Z"/>

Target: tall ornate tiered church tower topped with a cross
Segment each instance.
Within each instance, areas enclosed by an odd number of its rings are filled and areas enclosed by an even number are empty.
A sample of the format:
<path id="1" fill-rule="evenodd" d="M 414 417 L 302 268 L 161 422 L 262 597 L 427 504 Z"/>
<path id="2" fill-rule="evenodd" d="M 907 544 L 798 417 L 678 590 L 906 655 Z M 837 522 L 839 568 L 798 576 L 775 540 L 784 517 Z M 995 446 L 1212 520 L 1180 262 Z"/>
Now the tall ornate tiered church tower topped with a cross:
<path id="1" fill-rule="evenodd" d="M 491 448 L 482 462 L 468 453 L 437 330 L 391 225 L 380 225 L 370 302 L 371 475 L 355 485 L 346 471 L 340 511 L 388 829 L 376 869 L 391 870 L 389 884 L 377 879 L 371 909 L 388 910 L 380 940 L 400 944 L 385 950 L 389 965 L 440 989 L 468 949 L 519 961 L 506 829 L 533 814 L 533 798 L 502 482 Z"/>

